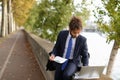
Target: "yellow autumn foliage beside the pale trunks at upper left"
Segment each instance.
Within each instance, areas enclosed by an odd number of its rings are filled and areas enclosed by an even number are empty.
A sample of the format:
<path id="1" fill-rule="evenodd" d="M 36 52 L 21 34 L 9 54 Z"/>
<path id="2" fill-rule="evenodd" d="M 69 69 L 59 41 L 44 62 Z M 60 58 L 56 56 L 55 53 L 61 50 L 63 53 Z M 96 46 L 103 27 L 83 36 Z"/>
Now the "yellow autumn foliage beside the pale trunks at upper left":
<path id="1" fill-rule="evenodd" d="M 12 0 L 14 20 L 19 26 L 26 22 L 34 1 L 35 0 Z"/>

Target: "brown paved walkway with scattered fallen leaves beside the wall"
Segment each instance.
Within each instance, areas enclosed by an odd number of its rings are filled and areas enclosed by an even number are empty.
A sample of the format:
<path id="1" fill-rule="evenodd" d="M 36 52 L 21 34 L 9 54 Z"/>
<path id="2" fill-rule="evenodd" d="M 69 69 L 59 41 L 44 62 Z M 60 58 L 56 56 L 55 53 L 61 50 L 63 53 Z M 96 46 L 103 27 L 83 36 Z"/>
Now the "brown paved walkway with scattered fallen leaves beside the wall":
<path id="1" fill-rule="evenodd" d="M 0 41 L 0 80 L 45 80 L 22 31 Z"/>

